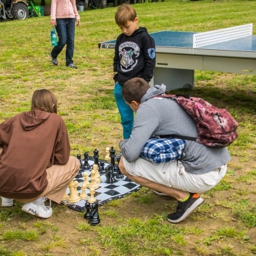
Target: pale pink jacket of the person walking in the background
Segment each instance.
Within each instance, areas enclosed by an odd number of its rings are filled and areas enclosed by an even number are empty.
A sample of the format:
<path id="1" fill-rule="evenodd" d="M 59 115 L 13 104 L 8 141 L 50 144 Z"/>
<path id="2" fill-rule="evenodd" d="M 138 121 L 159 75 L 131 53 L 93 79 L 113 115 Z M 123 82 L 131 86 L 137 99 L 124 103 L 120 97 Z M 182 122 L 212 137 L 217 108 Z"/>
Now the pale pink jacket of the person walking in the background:
<path id="1" fill-rule="evenodd" d="M 75 18 L 79 20 L 75 0 L 52 0 L 51 3 L 51 20 L 56 18 Z"/>

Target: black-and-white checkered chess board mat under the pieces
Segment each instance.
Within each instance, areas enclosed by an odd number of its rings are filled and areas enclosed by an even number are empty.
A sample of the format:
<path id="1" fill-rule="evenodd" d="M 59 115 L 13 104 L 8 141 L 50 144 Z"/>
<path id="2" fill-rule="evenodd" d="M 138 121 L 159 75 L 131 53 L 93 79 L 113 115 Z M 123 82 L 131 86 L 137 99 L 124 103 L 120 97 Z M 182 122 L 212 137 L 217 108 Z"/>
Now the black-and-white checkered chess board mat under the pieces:
<path id="1" fill-rule="evenodd" d="M 98 160 L 100 163 L 104 160 Z M 81 160 L 81 164 L 84 163 L 84 160 Z M 94 159 L 92 157 L 89 157 L 88 161 L 89 165 L 93 168 Z M 104 161 L 104 168 L 106 168 L 108 165 L 110 165 L 109 162 Z M 85 171 L 79 171 L 79 173 L 83 174 Z M 86 171 L 88 173 L 88 181 L 90 182 L 91 179 L 91 170 Z M 104 203 L 108 203 L 112 200 L 116 200 L 119 198 L 123 198 L 125 196 L 128 196 L 132 192 L 138 191 L 141 186 L 133 181 L 125 181 L 126 177 L 123 177 L 123 179 L 117 179 L 117 182 L 115 183 L 106 183 L 106 175 L 102 174 L 100 175 L 100 179 L 102 182 L 98 183 L 99 188 L 95 190 L 95 198 L 98 202 L 98 206 L 103 205 Z M 79 194 L 81 194 L 81 184 L 83 183 L 83 176 L 81 178 L 75 177 L 74 181 L 78 181 L 78 187 L 77 191 Z M 62 201 L 66 206 L 68 206 L 70 209 L 74 209 L 75 211 L 85 211 L 85 202 L 90 198 L 90 190 L 89 188 L 86 188 L 85 190 L 86 194 L 88 195 L 88 198 L 86 200 L 80 200 L 76 203 L 68 203 L 68 200 Z M 66 193 L 70 194 L 70 188 L 68 187 L 66 190 Z"/>

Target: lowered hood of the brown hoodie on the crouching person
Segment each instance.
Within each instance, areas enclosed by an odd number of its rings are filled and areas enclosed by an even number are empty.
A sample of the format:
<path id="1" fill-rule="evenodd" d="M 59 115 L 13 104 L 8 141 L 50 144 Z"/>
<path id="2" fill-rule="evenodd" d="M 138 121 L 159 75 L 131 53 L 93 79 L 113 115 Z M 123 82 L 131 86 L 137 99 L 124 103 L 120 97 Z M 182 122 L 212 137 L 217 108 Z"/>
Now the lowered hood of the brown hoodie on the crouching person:
<path id="1" fill-rule="evenodd" d="M 20 125 L 26 131 L 32 131 L 38 125 L 41 125 L 51 113 L 34 108 L 30 112 L 23 112 L 20 114 Z"/>

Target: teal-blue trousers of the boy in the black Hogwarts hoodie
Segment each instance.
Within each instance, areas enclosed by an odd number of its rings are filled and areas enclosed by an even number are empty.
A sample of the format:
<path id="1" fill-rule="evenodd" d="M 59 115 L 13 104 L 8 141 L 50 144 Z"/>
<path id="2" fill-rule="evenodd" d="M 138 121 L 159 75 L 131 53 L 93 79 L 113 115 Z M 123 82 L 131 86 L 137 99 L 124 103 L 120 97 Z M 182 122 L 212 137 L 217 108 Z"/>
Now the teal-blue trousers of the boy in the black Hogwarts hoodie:
<path id="1" fill-rule="evenodd" d="M 123 126 L 123 139 L 129 139 L 133 129 L 134 113 L 133 110 L 125 103 L 121 95 L 121 85 L 117 82 L 114 88 L 117 108 L 121 116 L 121 125 Z"/>

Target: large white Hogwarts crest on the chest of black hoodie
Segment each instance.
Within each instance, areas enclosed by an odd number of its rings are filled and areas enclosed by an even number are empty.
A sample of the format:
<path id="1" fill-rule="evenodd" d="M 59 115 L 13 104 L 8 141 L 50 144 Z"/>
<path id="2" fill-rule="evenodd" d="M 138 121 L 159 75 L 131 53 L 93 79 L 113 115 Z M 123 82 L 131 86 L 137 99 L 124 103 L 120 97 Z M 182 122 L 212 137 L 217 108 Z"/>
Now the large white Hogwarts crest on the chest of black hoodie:
<path id="1" fill-rule="evenodd" d="M 140 49 L 137 43 L 125 42 L 119 45 L 119 56 L 121 58 L 121 70 L 128 72 L 137 65 Z"/>

